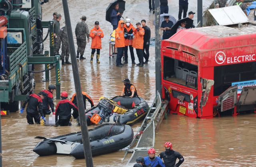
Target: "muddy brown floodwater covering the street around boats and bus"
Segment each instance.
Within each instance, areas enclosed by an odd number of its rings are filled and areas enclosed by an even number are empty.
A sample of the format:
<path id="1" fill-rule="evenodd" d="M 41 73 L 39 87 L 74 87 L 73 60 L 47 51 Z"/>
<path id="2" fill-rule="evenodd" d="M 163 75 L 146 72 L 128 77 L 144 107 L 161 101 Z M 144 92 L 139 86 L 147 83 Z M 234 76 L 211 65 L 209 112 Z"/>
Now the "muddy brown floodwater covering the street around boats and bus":
<path id="1" fill-rule="evenodd" d="M 43 21 L 51 20 L 52 13 L 62 14 L 60 26 L 64 26 L 64 12 L 62 0 L 49 0 L 42 5 Z M 105 20 L 105 12 L 108 4 L 112 0 L 87 1 L 68 0 L 70 17 L 75 47 L 76 39 L 74 30 L 77 22 L 80 22 L 82 15 L 87 16 L 86 23 L 89 30 L 93 28 L 94 22 L 99 21 L 100 28 L 104 32 L 102 39 L 102 50 L 100 50 L 100 64 L 90 63 L 90 42 L 86 45 L 85 60 L 78 60 L 78 69 L 82 91 L 85 91 L 93 99 L 94 104 L 98 104 L 100 97 L 112 98 L 120 95 L 124 84 L 122 80 L 129 78 L 136 87 L 138 95 L 143 97 L 149 104 L 155 98 L 155 48 L 150 47 L 150 58 L 147 65 L 138 67 L 133 65 L 128 52 L 128 64 L 122 68 L 116 67 L 116 57 L 109 59 L 109 40 L 112 33 L 112 26 Z M 196 0 L 190 0 L 189 9 L 196 12 Z M 204 7 L 210 0 L 204 0 Z M 127 0 L 124 19 L 130 18 L 131 23 L 146 20 L 146 25 L 151 29 L 151 37 L 154 37 L 154 14 L 148 12 L 148 0 Z M 169 13 L 178 18 L 178 2 L 169 0 Z M 195 15 L 196 18 L 196 15 Z M 196 21 L 194 21 L 196 23 Z M 46 34 L 46 30 L 44 30 Z M 49 50 L 49 38 L 44 42 L 44 50 Z M 60 50 L 61 52 L 61 50 Z M 135 50 L 134 50 L 135 53 Z M 135 53 L 135 62 L 138 58 Z M 122 63 L 124 63 L 122 61 Z M 36 71 L 43 70 L 44 67 L 37 65 Z M 67 91 L 68 97 L 75 93 L 74 80 L 72 76 L 72 66 L 60 65 L 61 92 Z M 50 71 L 50 82 L 43 82 L 45 74 L 35 74 L 36 90 L 47 89 L 48 85 L 56 83 L 55 70 Z M 54 93 L 54 105 L 56 107 L 60 100 L 56 99 Z M 90 103 L 86 101 L 87 108 Z M 237 117 L 226 116 L 214 119 L 194 119 L 181 115 L 168 115 L 160 125 L 156 133 L 155 149 L 156 155 L 164 151 L 164 143 L 172 142 L 173 149 L 180 152 L 184 157 L 181 166 L 256 166 L 256 115 L 238 115 Z M 51 155 L 40 157 L 32 151 L 41 139 L 34 139 L 36 136 L 54 137 L 67 133 L 80 131 L 80 127 L 73 119 L 72 126 L 49 127 L 41 125 L 28 125 L 26 111 L 21 114 L 19 111 L 10 115 L 1 116 L 2 123 L 2 161 L 3 166 L 85 166 L 84 159 L 75 159 L 72 156 Z M 142 122 L 132 126 L 134 134 L 138 131 Z M 94 128 L 91 125 L 88 128 Z M 132 155 L 128 153 L 124 158 L 125 150 L 93 157 L 95 167 L 123 167 Z M 178 162 L 178 161 L 177 161 Z"/>

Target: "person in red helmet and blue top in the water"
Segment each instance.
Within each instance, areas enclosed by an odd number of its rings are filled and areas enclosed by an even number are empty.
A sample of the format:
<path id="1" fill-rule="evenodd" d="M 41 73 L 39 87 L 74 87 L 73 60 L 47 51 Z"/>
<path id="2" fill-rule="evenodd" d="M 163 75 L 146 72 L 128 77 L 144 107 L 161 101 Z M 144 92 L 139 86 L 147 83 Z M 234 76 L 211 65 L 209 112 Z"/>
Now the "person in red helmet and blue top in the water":
<path id="1" fill-rule="evenodd" d="M 160 157 L 156 157 L 155 155 L 156 155 L 155 149 L 152 149 L 152 148 L 149 149 L 148 157 L 144 157 L 145 165 L 148 165 L 148 167 L 165 167 L 162 159 Z"/>

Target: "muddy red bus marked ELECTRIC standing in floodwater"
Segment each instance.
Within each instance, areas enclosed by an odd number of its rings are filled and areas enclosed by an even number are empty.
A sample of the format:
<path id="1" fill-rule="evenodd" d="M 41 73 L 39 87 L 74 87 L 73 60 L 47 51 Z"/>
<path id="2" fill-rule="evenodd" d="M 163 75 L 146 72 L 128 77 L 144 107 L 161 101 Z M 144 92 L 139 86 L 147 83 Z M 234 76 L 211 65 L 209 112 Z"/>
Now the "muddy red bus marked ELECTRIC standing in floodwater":
<path id="1" fill-rule="evenodd" d="M 162 41 L 162 98 L 171 113 L 212 118 L 255 111 L 253 24 L 187 29 Z"/>

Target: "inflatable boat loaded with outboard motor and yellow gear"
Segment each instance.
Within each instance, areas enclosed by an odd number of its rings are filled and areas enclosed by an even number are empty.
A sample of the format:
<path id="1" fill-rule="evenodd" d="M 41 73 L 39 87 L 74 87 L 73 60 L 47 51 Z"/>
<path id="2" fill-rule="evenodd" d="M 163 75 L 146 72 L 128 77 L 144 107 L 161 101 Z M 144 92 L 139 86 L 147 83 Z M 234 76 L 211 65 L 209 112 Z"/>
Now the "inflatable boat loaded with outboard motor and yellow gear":
<path id="1" fill-rule="evenodd" d="M 116 96 L 112 99 L 100 97 L 98 105 L 86 111 L 87 125 L 121 123 L 133 125 L 144 119 L 149 111 L 142 97 Z"/>

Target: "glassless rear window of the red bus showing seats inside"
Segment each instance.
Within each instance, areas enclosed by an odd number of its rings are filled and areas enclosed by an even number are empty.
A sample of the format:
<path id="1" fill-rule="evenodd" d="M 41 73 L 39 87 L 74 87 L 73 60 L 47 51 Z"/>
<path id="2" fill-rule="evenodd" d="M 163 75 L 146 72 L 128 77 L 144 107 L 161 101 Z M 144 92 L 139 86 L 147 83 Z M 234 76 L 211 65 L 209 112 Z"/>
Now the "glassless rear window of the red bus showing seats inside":
<path id="1" fill-rule="evenodd" d="M 197 74 L 197 66 L 164 56 L 164 80 L 197 89 Z M 195 83 L 187 82 L 189 76 L 195 78 Z"/>

